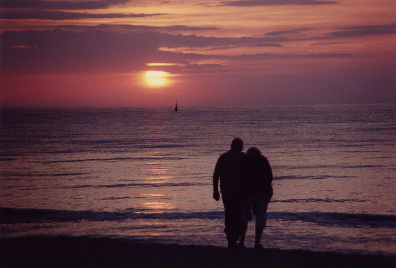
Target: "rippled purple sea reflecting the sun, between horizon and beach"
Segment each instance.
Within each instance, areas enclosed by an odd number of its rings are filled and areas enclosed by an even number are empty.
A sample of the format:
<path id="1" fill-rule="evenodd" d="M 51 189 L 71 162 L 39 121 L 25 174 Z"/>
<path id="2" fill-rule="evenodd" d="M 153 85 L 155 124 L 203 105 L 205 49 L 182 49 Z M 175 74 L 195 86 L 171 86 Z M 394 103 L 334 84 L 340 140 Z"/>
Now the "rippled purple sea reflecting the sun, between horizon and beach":
<path id="1" fill-rule="evenodd" d="M 237 136 L 274 174 L 264 247 L 396 254 L 396 104 L 1 109 L 1 237 L 226 246 L 211 179 Z"/>

